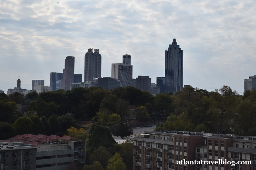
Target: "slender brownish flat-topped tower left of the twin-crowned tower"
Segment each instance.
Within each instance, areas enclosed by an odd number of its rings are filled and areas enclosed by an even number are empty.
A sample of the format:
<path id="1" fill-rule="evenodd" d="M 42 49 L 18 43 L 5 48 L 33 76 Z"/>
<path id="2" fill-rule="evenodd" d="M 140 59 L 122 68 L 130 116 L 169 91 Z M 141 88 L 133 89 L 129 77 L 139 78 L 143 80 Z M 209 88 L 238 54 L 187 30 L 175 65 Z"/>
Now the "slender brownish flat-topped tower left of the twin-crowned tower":
<path id="1" fill-rule="evenodd" d="M 75 57 L 67 56 L 65 59 L 65 69 L 61 79 L 61 89 L 70 90 L 70 83 L 74 83 Z"/>

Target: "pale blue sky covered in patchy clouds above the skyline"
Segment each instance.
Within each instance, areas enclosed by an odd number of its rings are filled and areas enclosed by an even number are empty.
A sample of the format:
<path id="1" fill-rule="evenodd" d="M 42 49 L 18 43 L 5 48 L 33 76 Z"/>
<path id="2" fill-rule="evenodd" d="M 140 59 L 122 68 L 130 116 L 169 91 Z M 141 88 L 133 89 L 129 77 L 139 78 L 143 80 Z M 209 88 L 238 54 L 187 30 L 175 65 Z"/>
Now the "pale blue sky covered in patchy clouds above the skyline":
<path id="1" fill-rule="evenodd" d="M 239 94 L 256 75 L 256 1 L 0 0 L 0 89 L 31 90 L 32 80 L 62 72 L 75 56 L 84 80 L 87 48 L 99 49 L 102 77 L 131 55 L 133 78 L 164 77 L 165 49 L 175 37 L 184 50 L 183 85 Z M 127 49 L 126 49 L 127 45 Z"/>

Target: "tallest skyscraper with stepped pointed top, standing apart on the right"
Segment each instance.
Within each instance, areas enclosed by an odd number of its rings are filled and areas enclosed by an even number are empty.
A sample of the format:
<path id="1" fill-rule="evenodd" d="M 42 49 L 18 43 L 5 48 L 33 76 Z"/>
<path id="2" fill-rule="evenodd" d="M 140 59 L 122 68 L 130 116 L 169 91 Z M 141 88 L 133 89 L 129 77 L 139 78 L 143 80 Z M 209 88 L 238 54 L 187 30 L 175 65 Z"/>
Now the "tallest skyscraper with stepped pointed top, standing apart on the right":
<path id="1" fill-rule="evenodd" d="M 183 50 L 173 38 L 172 44 L 165 50 L 165 92 L 174 93 L 183 87 Z"/>

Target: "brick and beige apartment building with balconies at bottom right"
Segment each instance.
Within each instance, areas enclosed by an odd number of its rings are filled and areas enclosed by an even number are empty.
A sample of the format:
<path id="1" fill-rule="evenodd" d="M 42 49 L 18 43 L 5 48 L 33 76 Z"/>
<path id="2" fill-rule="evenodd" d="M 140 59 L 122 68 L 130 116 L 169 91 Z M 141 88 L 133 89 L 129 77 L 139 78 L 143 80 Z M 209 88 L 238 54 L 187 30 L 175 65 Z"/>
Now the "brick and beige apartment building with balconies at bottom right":
<path id="1" fill-rule="evenodd" d="M 134 137 L 133 170 L 256 170 L 256 137 L 145 131 Z M 251 161 L 251 165 L 178 165 L 177 161 Z"/>

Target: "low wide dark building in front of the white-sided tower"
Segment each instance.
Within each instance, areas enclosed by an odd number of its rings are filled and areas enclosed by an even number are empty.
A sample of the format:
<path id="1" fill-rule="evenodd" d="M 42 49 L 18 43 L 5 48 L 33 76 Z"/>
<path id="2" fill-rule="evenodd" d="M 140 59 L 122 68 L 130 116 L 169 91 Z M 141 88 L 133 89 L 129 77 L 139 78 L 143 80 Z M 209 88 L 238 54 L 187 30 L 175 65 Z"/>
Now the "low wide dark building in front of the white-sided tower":
<path id="1" fill-rule="evenodd" d="M 120 86 L 120 80 L 111 77 L 98 78 L 98 87 L 105 90 L 115 89 Z"/>

